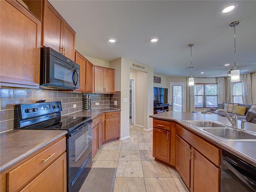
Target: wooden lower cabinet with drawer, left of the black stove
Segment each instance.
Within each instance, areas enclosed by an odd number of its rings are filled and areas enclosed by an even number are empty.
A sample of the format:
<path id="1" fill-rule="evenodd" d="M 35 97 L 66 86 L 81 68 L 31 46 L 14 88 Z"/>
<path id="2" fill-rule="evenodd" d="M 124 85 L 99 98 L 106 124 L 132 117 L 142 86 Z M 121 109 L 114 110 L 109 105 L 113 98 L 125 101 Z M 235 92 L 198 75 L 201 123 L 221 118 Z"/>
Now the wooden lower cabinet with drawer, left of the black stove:
<path id="1" fill-rule="evenodd" d="M 63 136 L 1 172 L 0 191 L 66 192 L 66 163 L 66 137 Z"/>

